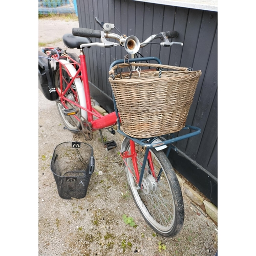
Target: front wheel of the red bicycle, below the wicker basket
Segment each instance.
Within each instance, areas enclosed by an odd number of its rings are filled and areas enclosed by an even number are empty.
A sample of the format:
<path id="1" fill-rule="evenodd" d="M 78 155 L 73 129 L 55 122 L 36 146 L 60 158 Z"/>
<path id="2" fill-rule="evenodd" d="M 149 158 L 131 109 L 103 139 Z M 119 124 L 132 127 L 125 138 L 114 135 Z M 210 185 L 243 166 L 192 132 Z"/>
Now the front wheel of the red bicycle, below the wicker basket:
<path id="1" fill-rule="evenodd" d="M 125 138 L 122 149 L 130 151 L 130 140 Z M 137 165 L 139 173 L 144 159 L 144 148 L 136 145 Z M 150 168 L 146 163 L 142 181 L 143 189 L 137 189 L 134 166 L 131 158 L 124 159 L 125 173 L 134 201 L 145 221 L 157 233 L 164 237 L 176 236 L 184 222 L 184 204 L 179 181 L 172 165 L 162 151 L 150 150 L 153 158 L 156 177 L 162 168 L 158 182 L 149 174 Z M 130 155 L 130 154 L 129 154 Z"/>

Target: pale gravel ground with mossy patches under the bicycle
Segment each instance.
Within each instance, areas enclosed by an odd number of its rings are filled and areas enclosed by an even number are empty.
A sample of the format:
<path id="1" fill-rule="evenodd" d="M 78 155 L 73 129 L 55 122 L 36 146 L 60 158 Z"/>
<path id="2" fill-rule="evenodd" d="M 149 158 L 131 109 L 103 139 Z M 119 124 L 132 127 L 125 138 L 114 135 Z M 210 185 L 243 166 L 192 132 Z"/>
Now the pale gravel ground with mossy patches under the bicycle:
<path id="1" fill-rule="evenodd" d="M 39 42 L 63 47 L 64 33 L 79 27 L 78 21 L 39 19 Z M 54 148 L 66 141 L 83 141 L 63 130 L 56 104 L 38 90 L 38 255 L 198 255 L 214 256 L 217 226 L 205 213 L 186 201 L 185 221 L 174 238 L 164 238 L 152 230 L 140 215 L 127 187 L 124 167 L 118 156 L 122 136 L 103 130 L 117 148 L 106 151 L 94 133 L 95 172 L 85 198 L 59 197 L 50 163 Z M 136 228 L 125 225 L 122 215 L 134 218 Z M 159 243 L 165 250 L 159 249 Z"/>

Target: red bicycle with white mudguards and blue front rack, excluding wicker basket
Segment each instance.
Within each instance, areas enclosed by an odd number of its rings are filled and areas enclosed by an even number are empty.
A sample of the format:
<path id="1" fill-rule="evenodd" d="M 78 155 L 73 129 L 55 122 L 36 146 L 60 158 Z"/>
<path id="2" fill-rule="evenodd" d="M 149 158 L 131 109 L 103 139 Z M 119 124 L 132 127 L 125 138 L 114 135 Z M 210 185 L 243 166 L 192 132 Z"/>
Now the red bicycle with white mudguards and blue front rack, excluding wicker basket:
<path id="1" fill-rule="evenodd" d="M 94 131 L 118 125 L 117 131 L 124 136 L 120 155 L 124 161 L 127 181 L 137 207 L 145 221 L 157 233 L 166 237 L 175 236 L 183 225 L 184 206 L 177 176 L 167 156 L 171 148 L 176 150 L 172 143 L 195 136 L 201 131 L 198 127 L 186 125 L 183 129 L 194 132 L 179 137 L 169 136 L 171 139 L 166 139 L 164 136 L 140 139 L 122 132 L 114 95 L 115 112 L 102 116 L 92 106 L 83 48 L 122 46 L 127 53 L 132 54 L 130 59 L 114 61 L 110 66 L 111 69 L 115 65 L 128 61 L 154 60 L 161 64 L 156 57 L 134 58 L 134 54 L 141 47 L 147 46 L 154 39 L 160 38 L 162 42 L 159 45 L 161 46 L 170 47 L 174 44 L 183 44 L 168 40 L 168 38 L 178 36 L 176 31 L 154 34 L 140 43 L 135 36 L 127 37 L 112 33 L 113 24 L 100 22 L 98 18 L 96 18 L 96 22 L 102 30 L 73 28 L 73 34 L 63 36 L 63 42 L 68 48 L 80 49 L 79 58 L 60 48 L 42 49 L 42 52 L 39 53 L 39 61 L 48 63 L 50 72 L 44 73 L 47 68 L 40 70 L 39 67 L 39 73 L 41 72 L 39 75 L 40 88 L 48 99 L 56 100 L 60 117 L 66 125 L 65 128 L 72 132 L 81 132 L 88 141 L 92 139 Z M 92 42 L 90 37 L 99 38 L 100 42 Z M 114 38 L 119 42 L 111 42 L 106 38 Z M 137 70 L 137 72 L 139 71 Z M 49 79 L 46 82 L 46 77 L 51 77 L 52 82 L 49 83 Z M 47 90 L 42 88 L 44 84 L 47 84 Z M 111 146 L 115 147 L 116 145 Z M 166 148 L 165 153 L 162 151 L 163 148 Z"/>

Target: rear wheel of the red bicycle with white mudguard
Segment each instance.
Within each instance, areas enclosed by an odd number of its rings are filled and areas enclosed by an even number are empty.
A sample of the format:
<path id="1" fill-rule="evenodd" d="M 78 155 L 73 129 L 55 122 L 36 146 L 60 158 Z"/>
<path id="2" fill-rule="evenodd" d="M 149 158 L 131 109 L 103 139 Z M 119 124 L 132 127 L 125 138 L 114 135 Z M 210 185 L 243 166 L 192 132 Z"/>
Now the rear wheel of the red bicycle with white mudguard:
<path id="1" fill-rule="evenodd" d="M 65 65 L 66 63 L 68 64 L 69 62 L 66 60 L 60 60 L 62 62 L 63 65 Z M 61 65 L 61 72 L 62 72 L 62 91 L 65 90 L 65 88 L 67 88 L 67 84 L 71 81 L 71 78 L 67 72 L 67 70 L 65 69 L 65 67 L 63 67 L 63 65 Z M 68 64 L 66 65 L 66 68 L 68 69 L 68 71 L 70 72 L 70 74 L 72 76 L 74 76 L 76 74 L 76 70 L 75 68 Z M 56 68 L 55 71 L 55 76 L 54 76 L 54 82 L 55 82 L 55 88 L 56 91 L 60 93 L 60 67 L 58 65 L 58 67 Z M 84 106 L 84 108 L 86 108 L 86 99 L 84 97 L 84 89 L 82 86 L 82 82 L 80 80 L 80 78 L 75 78 L 74 82 L 71 86 L 71 88 L 66 92 L 65 97 L 74 101 L 75 103 Z M 64 105 L 65 106 L 64 106 Z M 59 112 L 59 115 L 63 121 L 63 123 L 66 125 L 66 127 L 71 130 L 71 131 L 77 131 L 80 130 L 81 128 L 81 124 L 80 121 L 77 120 L 75 118 L 75 115 L 71 115 L 71 116 L 67 116 L 63 113 L 64 109 L 69 109 L 69 108 L 74 108 L 74 109 L 78 109 L 74 104 L 65 101 L 64 103 L 61 103 L 60 99 L 56 100 L 56 105 L 57 105 L 57 109 Z M 82 110 L 82 109 L 78 109 L 77 111 L 79 111 L 80 115 L 76 115 L 78 118 L 79 116 L 82 116 L 84 120 L 87 120 L 87 112 Z"/>

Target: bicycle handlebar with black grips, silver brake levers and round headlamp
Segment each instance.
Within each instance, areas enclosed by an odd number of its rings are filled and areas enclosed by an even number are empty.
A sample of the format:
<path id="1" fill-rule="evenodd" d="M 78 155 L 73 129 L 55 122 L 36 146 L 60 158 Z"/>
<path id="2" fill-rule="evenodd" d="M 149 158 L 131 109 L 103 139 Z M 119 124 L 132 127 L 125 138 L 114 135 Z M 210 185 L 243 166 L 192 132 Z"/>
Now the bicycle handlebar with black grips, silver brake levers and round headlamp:
<path id="1" fill-rule="evenodd" d="M 168 38 L 178 37 L 179 33 L 177 31 L 166 31 L 161 32 L 159 34 L 154 34 L 148 37 L 145 41 L 139 42 L 139 39 L 136 36 L 126 35 L 118 35 L 115 33 L 111 33 L 110 31 L 115 28 L 114 24 L 103 23 L 97 17 L 95 17 L 97 24 L 103 29 L 94 30 L 88 28 L 73 28 L 72 34 L 74 36 L 82 36 L 82 37 L 95 37 L 100 38 L 101 42 L 92 42 L 90 44 L 82 44 L 80 48 L 89 47 L 89 46 L 99 46 L 99 47 L 113 47 L 121 45 L 125 48 L 128 53 L 134 54 L 138 52 L 139 48 L 145 47 L 148 44 L 152 44 L 154 39 L 160 38 L 162 42 L 158 43 L 161 46 L 170 47 L 174 44 L 178 44 L 183 46 L 182 42 L 170 42 Z M 114 38 L 119 41 L 119 44 L 116 42 L 110 42 L 105 38 Z M 156 43 L 157 44 L 157 43 Z"/>

